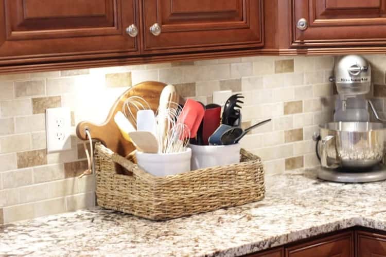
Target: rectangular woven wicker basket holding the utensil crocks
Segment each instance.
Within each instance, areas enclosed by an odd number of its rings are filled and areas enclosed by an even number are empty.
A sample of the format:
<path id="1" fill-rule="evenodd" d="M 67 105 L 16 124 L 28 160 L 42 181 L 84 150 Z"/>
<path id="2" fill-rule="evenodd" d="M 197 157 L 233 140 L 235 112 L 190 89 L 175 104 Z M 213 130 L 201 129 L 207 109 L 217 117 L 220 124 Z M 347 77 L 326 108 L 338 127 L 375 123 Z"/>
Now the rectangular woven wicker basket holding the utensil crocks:
<path id="1" fill-rule="evenodd" d="M 161 221 L 261 200 L 261 159 L 243 149 L 240 163 L 156 177 L 102 144 L 95 145 L 99 206 Z M 116 163 L 130 175 L 117 174 Z"/>

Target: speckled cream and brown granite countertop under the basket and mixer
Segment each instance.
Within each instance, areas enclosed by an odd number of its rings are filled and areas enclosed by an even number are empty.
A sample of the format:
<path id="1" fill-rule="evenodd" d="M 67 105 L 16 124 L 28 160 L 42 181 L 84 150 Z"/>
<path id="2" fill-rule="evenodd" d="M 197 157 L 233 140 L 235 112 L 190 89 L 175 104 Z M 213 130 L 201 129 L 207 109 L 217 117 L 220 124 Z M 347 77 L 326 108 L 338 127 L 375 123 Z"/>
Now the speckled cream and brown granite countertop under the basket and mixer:
<path id="1" fill-rule="evenodd" d="M 314 170 L 267 177 L 266 198 L 151 222 L 95 208 L 0 227 L 0 255 L 241 255 L 355 225 L 386 230 L 386 182 L 324 182 Z"/>

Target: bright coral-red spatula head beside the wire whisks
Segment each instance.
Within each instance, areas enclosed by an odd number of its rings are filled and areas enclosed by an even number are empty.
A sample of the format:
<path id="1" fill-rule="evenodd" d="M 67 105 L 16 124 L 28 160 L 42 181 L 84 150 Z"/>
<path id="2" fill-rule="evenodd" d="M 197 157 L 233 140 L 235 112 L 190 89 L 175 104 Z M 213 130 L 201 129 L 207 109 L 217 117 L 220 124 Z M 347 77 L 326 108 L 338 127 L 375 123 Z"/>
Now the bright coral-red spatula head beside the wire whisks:
<path id="1" fill-rule="evenodd" d="M 192 99 L 186 100 L 181 114 L 178 117 L 178 122 L 186 125 L 183 138 L 196 137 L 197 130 L 204 117 L 204 113 L 204 107 L 202 107 L 199 102 Z"/>

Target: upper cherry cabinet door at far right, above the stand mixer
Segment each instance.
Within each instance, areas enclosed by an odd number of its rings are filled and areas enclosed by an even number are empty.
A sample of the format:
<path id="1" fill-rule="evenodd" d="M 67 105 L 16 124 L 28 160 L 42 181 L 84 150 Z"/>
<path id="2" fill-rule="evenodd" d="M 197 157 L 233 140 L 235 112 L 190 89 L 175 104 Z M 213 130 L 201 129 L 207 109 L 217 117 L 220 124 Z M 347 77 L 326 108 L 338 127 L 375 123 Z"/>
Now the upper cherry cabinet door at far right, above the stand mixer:
<path id="1" fill-rule="evenodd" d="M 386 0 L 291 0 L 291 8 L 292 46 L 386 44 Z M 308 26 L 298 28 L 301 19 Z"/>

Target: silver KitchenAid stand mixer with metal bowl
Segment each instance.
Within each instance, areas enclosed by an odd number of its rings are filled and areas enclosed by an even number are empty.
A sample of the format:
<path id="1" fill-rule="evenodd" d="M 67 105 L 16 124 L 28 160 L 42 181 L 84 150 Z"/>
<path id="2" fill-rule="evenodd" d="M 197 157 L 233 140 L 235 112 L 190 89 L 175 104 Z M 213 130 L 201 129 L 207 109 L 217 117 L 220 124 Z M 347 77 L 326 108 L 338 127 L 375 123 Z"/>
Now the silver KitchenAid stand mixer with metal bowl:
<path id="1" fill-rule="evenodd" d="M 334 122 L 319 126 L 315 133 L 317 156 L 322 167 L 318 177 L 338 182 L 370 182 L 386 179 L 386 120 L 379 118 L 371 100 L 371 67 L 361 56 L 340 58 L 334 68 L 338 98 Z M 380 122 L 370 122 L 369 107 Z"/>

